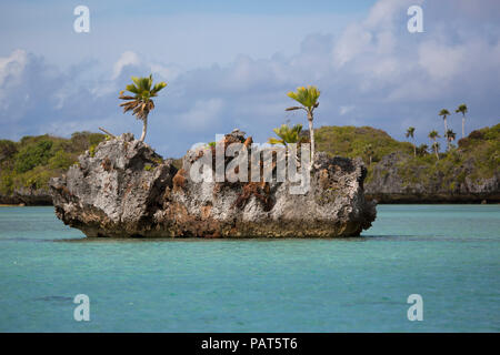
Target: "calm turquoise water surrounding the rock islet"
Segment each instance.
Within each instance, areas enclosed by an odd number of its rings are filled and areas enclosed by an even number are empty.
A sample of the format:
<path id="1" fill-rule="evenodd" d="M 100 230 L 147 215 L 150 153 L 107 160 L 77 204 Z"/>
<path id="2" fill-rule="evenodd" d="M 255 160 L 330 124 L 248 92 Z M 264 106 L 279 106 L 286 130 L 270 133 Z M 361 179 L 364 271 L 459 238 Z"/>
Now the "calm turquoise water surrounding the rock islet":
<path id="1" fill-rule="evenodd" d="M 499 205 L 380 205 L 363 235 L 89 242 L 0 207 L 0 332 L 500 331 Z"/>

